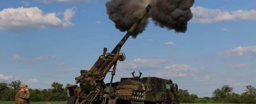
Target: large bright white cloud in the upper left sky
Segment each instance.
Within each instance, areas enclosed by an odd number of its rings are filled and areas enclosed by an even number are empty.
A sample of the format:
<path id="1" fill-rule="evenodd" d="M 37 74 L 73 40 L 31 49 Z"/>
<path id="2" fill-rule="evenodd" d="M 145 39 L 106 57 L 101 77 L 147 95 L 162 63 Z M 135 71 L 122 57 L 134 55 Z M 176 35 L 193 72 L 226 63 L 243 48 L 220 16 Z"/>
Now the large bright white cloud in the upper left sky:
<path id="1" fill-rule="evenodd" d="M 75 9 L 76 7 L 67 9 L 63 13 L 63 19 L 60 19 L 55 12 L 44 14 L 38 7 L 6 8 L 0 11 L 0 30 L 23 31 L 45 27 L 70 27 L 73 26 L 71 18 Z"/>

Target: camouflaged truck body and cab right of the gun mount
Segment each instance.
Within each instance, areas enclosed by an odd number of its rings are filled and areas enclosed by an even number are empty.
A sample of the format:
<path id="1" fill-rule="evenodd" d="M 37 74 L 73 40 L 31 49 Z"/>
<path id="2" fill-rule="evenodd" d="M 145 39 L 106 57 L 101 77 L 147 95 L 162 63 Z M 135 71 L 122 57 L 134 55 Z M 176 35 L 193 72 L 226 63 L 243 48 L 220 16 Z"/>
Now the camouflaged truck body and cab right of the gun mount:
<path id="1" fill-rule="evenodd" d="M 134 73 L 134 72 L 133 72 Z M 178 85 L 158 77 L 121 78 L 120 82 L 106 84 L 106 92 L 116 104 L 178 104 L 175 93 Z M 112 94 L 113 96 L 111 96 Z M 112 102 L 115 102 L 112 101 Z"/>

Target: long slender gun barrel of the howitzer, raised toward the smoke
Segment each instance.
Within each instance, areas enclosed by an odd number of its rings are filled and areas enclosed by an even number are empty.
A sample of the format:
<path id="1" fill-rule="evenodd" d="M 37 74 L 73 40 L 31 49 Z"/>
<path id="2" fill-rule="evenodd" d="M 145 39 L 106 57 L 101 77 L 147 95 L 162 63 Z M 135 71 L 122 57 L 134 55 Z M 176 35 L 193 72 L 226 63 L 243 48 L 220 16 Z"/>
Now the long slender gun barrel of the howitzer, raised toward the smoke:
<path id="1" fill-rule="evenodd" d="M 138 24 L 143 20 L 143 18 L 146 16 L 146 14 L 149 12 L 149 9 L 151 8 L 150 5 L 148 5 L 146 7 L 146 10 L 143 12 L 143 14 L 138 18 L 138 21 L 136 23 L 133 24 L 133 26 L 130 28 L 130 30 L 125 34 L 125 36 L 123 37 L 122 40 L 120 40 L 120 42 L 118 43 L 118 45 L 115 46 L 115 48 L 112 50 L 112 54 L 116 54 L 118 51 L 118 48 L 121 49 L 121 47 L 123 46 L 123 44 L 126 42 L 126 40 L 128 40 L 128 38 L 130 37 L 130 35 L 133 33 L 133 31 L 136 29 L 136 27 L 138 26 Z"/>

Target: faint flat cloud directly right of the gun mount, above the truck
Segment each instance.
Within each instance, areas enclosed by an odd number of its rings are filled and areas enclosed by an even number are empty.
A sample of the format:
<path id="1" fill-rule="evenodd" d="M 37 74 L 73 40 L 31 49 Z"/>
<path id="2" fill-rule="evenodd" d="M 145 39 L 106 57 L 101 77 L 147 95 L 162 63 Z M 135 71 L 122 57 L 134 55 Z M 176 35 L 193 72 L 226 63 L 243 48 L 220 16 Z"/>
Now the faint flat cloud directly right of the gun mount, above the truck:
<path id="1" fill-rule="evenodd" d="M 120 69 L 147 69 L 160 68 L 159 64 L 169 62 L 169 59 L 133 59 L 130 62 L 118 63 Z"/>

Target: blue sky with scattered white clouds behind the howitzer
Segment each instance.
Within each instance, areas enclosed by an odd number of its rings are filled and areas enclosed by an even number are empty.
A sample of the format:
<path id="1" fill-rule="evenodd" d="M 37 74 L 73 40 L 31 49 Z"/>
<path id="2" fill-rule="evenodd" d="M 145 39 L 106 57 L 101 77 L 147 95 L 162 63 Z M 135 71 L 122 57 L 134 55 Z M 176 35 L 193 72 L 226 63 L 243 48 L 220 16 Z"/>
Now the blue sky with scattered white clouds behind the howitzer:
<path id="1" fill-rule="evenodd" d="M 73 1 L 0 1 L 0 82 L 19 79 L 34 89 L 74 84 L 81 69 L 89 69 L 104 47 L 110 52 L 125 35 L 109 20 L 107 0 Z M 114 81 L 140 71 L 143 77 L 172 79 L 199 97 L 211 97 L 225 84 L 239 94 L 248 84 L 256 87 L 255 4 L 195 0 L 186 33 L 150 21 L 123 46 L 127 59 L 118 63 Z"/>

